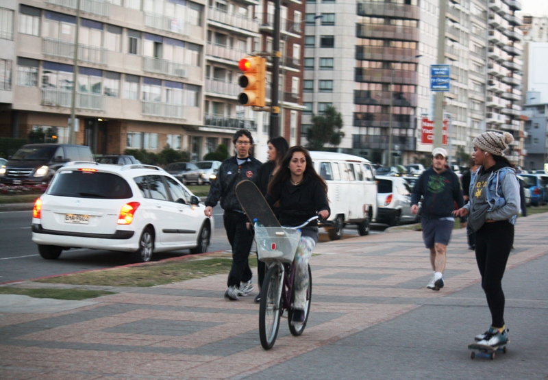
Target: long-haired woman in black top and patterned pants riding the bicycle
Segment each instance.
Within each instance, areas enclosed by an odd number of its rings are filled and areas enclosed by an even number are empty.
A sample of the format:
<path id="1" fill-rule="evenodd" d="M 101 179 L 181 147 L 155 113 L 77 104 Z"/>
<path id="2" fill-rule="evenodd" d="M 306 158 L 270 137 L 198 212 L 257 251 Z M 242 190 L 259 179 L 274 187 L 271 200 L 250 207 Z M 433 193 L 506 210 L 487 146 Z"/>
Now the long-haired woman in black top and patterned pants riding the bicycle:
<path id="1" fill-rule="evenodd" d="M 269 183 L 266 201 L 279 210 L 279 223 L 298 226 L 310 217 L 319 214 L 322 219 L 329 217 L 327 183 L 316 173 L 312 158 L 303 147 L 291 147 L 279 170 Z M 301 227 L 301 240 L 295 253 L 295 311 L 292 325 L 305 320 L 306 288 L 308 288 L 308 259 L 318 242 L 316 220 Z"/>

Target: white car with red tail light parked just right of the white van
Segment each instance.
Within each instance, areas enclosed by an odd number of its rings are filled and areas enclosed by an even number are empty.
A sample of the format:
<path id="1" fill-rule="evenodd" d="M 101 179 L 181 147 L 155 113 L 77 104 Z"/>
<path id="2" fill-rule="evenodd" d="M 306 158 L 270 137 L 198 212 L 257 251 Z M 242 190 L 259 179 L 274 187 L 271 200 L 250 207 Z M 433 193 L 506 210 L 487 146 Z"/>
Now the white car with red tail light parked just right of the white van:
<path id="1" fill-rule="evenodd" d="M 401 177 L 377 176 L 377 222 L 397 226 L 416 222 L 420 216 L 411 212 L 411 188 Z"/>

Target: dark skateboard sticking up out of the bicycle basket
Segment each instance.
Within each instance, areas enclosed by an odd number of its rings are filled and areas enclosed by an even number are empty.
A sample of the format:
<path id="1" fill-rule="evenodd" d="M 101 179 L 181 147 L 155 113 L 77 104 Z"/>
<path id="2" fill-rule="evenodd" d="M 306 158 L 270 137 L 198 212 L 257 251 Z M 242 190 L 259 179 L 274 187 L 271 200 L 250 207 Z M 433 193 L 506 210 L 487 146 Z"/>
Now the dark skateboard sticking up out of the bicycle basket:
<path id="1" fill-rule="evenodd" d="M 257 219 L 264 227 L 280 227 L 269 203 L 266 202 L 255 183 L 247 179 L 240 181 L 236 185 L 236 197 L 251 223 Z"/>

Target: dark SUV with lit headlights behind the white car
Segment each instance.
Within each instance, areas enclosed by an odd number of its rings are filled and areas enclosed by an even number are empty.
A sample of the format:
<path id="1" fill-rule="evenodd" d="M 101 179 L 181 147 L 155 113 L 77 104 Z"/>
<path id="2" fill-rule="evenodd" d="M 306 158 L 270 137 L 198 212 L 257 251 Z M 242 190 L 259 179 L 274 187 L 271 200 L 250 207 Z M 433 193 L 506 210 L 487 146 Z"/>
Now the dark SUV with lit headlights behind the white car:
<path id="1" fill-rule="evenodd" d="M 93 161 L 93 155 L 90 148 L 84 145 L 23 145 L 5 163 L 5 167 L 0 168 L 0 183 L 48 183 L 55 172 L 69 161 Z"/>

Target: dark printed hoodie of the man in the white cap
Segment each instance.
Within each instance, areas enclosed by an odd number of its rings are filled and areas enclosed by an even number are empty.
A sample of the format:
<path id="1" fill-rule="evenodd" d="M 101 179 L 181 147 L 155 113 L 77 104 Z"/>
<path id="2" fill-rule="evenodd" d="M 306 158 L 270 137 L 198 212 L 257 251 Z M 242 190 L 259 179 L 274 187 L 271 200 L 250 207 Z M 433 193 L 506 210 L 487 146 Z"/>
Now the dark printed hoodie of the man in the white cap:
<path id="1" fill-rule="evenodd" d="M 458 177 L 449 168 L 438 174 L 430 166 L 421 174 L 411 194 L 411 205 L 419 203 L 421 197 L 421 216 L 427 219 L 447 218 L 452 216 L 455 203 L 458 208 L 464 205 Z"/>

